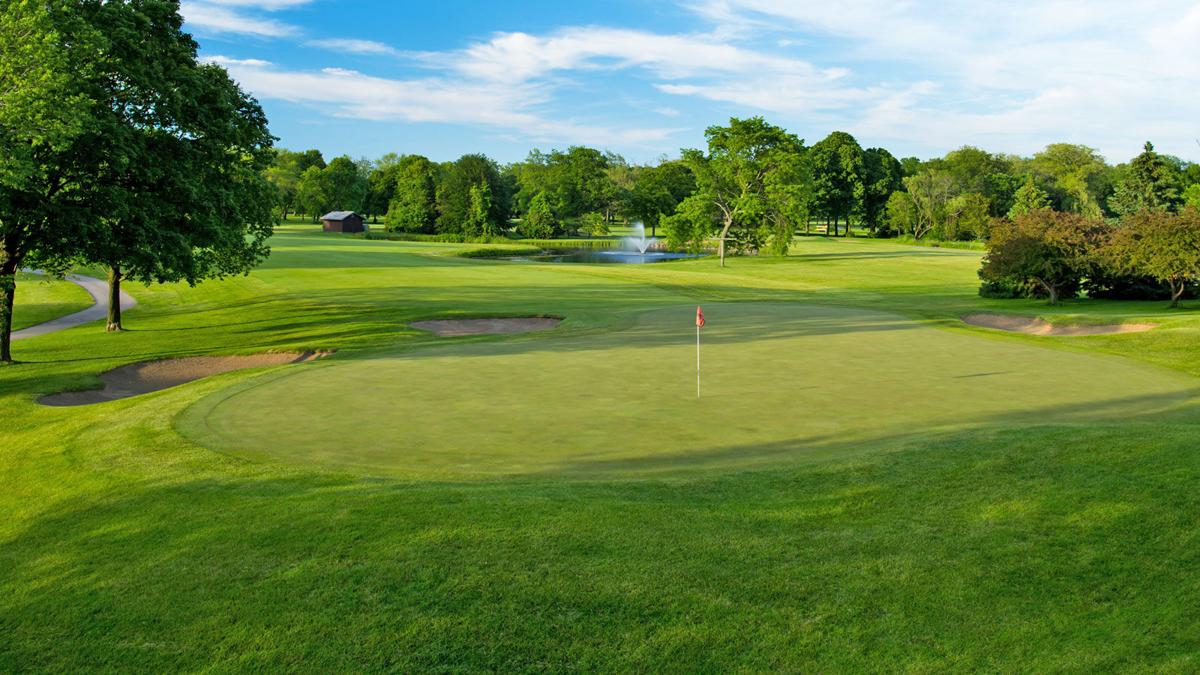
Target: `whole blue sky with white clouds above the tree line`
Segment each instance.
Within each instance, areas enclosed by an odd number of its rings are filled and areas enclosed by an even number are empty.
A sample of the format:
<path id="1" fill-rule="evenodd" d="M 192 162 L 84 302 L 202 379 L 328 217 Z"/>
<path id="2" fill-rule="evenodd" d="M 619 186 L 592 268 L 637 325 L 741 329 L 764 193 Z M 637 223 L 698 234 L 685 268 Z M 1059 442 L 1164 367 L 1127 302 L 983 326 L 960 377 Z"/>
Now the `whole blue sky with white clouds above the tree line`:
<path id="1" fill-rule="evenodd" d="M 185 0 L 203 58 L 326 156 L 588 144 L 631 161 L 763 115 L 922 157 L 1146 139 L 1200 160 L 1194 1 Z"/>

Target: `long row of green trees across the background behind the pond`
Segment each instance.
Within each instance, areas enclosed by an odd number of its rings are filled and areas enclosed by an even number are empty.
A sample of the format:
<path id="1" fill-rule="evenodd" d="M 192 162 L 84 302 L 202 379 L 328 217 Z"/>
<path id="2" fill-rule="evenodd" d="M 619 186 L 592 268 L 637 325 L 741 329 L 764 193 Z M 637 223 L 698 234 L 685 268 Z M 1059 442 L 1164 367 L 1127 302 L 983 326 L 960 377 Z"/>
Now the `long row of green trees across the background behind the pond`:
<path id="1" fill-rule="evenodd" d="M 634 165 L 586 147 L 500 166 L 485 155 L 378 161 L 278 150 L 269 172 L 286 213 L 359 210 L 396 232 L 462 237 L 600 235 L 617 219 L 662 227 L 672 246 L 786 252 L 798 231 L 986 240 L 997 220 L 1049 208 L 1118 220 L 1200 205 L 1200 165 L 1147 143 L 1112 166 L 1086 145 L 1054 143 L 1031 157 L 964 147 L 898 159 L 844 131 L 806 145 L 762 118 L 706 131 L 707 147 Z M 358 169 L 355 172 L 355 169 Z"/>

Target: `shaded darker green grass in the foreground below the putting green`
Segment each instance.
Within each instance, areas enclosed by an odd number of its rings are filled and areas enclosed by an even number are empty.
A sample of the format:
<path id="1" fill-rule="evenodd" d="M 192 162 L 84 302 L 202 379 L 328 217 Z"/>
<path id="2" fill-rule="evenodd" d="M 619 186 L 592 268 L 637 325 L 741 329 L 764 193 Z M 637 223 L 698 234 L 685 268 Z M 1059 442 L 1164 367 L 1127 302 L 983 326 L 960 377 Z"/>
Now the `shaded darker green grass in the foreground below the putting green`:
<path id="1" fill-rule="evenodd" d="M 990 430 L 694 482 L 55 482 L 76 496 L 5 530 L 0 668 L 1160 670 L 1200 650 L 1198 442 Z"/>

